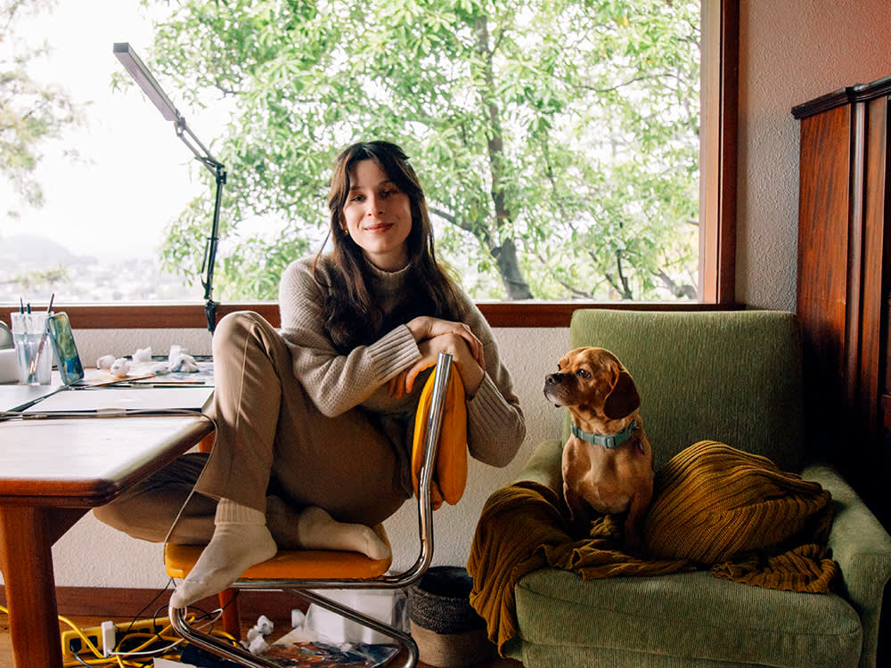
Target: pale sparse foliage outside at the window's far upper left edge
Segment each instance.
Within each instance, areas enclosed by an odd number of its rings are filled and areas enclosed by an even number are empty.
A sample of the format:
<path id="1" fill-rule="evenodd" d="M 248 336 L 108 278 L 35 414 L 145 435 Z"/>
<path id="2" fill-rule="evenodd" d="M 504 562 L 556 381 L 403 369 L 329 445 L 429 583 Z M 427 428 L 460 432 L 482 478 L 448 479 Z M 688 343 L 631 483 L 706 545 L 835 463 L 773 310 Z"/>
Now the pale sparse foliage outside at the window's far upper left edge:
<path id="1" fill-rule="evenodd" d="M 29 63 L 48 47 L 30 47 L 16 36 L 22 17 L 52 6 L 50 0 L 0 0 L 0 177 L 12 183 L 23 203 L 34 207 L 44 201 L 34 175 L 42 146 L 79 122 L 67 93 L 29 76 Z M 18 216 L 14 208 L 4 213 Z"/>

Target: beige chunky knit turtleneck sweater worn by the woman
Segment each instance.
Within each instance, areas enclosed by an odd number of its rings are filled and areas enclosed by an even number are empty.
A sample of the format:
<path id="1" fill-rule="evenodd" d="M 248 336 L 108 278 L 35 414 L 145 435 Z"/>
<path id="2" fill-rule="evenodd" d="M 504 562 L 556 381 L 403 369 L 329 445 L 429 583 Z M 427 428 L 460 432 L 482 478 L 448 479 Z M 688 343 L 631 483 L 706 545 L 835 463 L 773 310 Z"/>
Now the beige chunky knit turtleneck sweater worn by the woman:
<path id="1" fill-rule="evenodd" d="M 290 348 L 294 375 L 325 415 L 336 416 L 356 406 L 377 413 L 405 463 L 411 452 L 414 411 L 426 373 L 415 381 L 413 392 L 401 399 L 388 395 L 387 381 L 421 358 L 405 324 L 388 331 L 368 346 L 339 354 L 323 331 L 323 305 L 330 281 L 320 284 L 313 273 L 314 257 L 292 263 L 282 274 L 279 308 L 282 337 Z M 327 258 L 320 262 L 323 276 L 333 270 Z M 407 269 L 396 273 L 374 270 L 372 291 L 386 313 L 392 312 L 405 293 Z M 468 397 L 467 443 L 470 456 L 492 466 L 506 466 L 526 436 L 519 401 L 511 376 L 503 367 L 498 346 L 483 315 L 463 292 L 464 322 L 484 346 L 486 375 L 476 395 Z M 334 436 L 334 435 L 332 435 Z M 401 452 L 399 452 L 401 451 Z M 406 478 L 407 477 L 407 478 Z"/>

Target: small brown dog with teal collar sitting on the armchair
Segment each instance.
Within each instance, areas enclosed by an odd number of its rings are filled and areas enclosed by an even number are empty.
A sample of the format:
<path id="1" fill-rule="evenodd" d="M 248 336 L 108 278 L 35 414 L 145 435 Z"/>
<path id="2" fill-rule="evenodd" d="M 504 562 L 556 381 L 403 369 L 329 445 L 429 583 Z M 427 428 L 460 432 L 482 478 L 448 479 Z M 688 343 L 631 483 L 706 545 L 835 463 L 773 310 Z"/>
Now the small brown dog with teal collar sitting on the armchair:
<path id="1" fill-rule="evenodd" d="M 586 505 L 607 515 L 627 512 L 625 545 L 638 548 L 653 495 L 653 452 L 634 379 L 604 348 L 576 348 L 557 368 L 544 379 L 544 395 L 572 416 L 572 436 L 563 447 L 563 494 L 573 525 L 587 533 Z"/>

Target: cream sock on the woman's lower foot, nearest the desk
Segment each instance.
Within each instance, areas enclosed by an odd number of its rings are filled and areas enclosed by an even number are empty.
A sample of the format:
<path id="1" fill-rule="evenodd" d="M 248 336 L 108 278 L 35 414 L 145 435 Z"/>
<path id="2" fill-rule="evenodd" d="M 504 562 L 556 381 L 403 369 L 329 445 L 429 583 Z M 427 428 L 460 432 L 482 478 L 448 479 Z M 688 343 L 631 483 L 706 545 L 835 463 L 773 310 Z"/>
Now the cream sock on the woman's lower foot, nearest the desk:
<path id="1" fill-rule="evenodd" d="M 266 528 L 266 514 L 228 499 L 217 503 L 216 528 L 192 572 L 176 585 L 170 605 L 186 607 L 225 590 L 250 566 L 278 551 Z"/>

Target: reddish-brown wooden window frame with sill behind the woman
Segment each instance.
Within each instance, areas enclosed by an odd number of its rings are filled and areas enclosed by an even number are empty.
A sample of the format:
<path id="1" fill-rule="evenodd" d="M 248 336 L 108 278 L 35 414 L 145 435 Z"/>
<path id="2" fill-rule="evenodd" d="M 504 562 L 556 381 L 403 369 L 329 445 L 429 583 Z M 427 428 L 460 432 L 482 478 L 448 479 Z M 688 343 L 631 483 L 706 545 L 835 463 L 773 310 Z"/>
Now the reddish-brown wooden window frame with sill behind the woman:
<path id="1" fill-rule="evenodd" d="M 702 0 L 699 126 L 699 301 L 479 302 L 492 327 L 568 327 L 578 308 L 709 311 L 740 308 L 735 300 L 737 123 L 740 0 Z M 78 329 L 204 329 L 204 304 L 57 304 Z M 279 326 L 274 302 L 217 305 L 217 319 L 251 310 Z M 3 314 L 9 323 L 9 314 Z"/>

